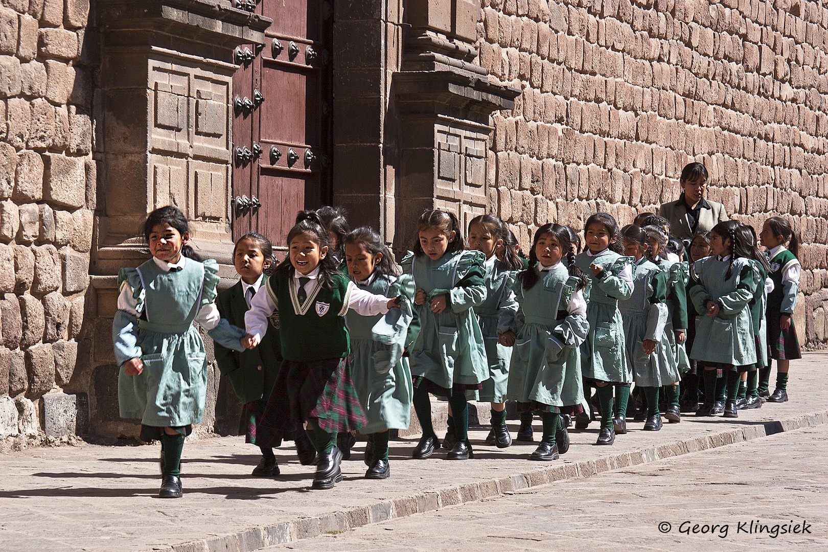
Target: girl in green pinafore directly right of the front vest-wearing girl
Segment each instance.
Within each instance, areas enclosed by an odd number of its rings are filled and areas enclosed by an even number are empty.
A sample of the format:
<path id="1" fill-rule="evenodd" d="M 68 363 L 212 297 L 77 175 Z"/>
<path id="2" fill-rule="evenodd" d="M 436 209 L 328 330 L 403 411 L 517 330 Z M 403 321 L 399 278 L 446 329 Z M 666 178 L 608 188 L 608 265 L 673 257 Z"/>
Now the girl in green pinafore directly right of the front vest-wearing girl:
<path id="1" fill-rule="evenodd" d="M 349 276 L 359 289 L 374 295 L 401 297 L 401 309 L 388 314 L 363 316 L 349 310 L 345 315 L 351 339 L 354 389 L 365 409 L 368 423 L 360 430 L 368 435 L 365 463 L 368 479 L 385 479 L 388 465 L 388 430 L 407 430 L 412 410 L 412 375 L 402 353 L 412 319 L 411 277 L 395 276 L 399 267 L 388 247 L 373 229 L 356 228 L 344 238 Z M 391 331 L 380 331 L 378 324 Z"/>

